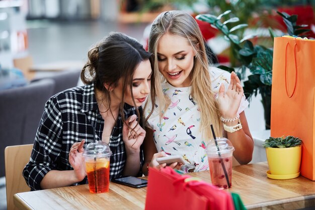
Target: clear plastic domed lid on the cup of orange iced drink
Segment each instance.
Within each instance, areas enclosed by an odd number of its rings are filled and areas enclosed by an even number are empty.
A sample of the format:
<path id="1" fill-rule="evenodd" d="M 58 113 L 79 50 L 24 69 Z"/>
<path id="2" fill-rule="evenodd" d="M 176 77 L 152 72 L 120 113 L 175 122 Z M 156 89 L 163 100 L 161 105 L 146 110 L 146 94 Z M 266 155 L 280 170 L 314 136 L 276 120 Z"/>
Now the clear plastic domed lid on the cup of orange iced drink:
<path id="1" fill-rule="evenodd" d="M 106 143 L 102 141 L 97 141 L 96 143 L 88 144 L 87 147 L 84 149 L 83 155 L 86 157 L 89 156 L 102 158 L 111 156 L 112 152 Z"/>

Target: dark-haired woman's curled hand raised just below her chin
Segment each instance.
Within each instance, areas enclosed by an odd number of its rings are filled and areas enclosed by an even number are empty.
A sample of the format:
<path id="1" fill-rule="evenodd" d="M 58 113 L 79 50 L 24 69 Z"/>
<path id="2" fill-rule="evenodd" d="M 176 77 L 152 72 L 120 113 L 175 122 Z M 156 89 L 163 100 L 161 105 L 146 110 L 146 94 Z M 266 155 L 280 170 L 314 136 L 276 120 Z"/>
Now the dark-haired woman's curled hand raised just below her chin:
<path id="1" fill-rule="evenodd" d="M 133 114 L 124 122 L 122 129 L 122 139 L 125 143 L 127 153 L 139 153 L 140 146 L 145 137 L 145 130 L 137 124 L 137 115 Z M 129 128 L 128 126 L 129 125 Z"/>

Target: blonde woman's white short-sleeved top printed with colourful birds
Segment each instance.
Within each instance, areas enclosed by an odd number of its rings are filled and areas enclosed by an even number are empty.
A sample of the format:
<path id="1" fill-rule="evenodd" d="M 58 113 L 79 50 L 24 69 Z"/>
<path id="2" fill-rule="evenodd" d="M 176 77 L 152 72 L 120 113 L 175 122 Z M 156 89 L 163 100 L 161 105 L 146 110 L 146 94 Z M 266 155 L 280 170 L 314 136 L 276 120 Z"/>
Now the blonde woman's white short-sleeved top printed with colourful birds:
<path id="1" fill-rule="evenodd" d="M 230 74 L 215 67 L 210 67 L 209 73 L 212 78 L 212 89 L 217 98 L 222 83 L 227 90 Z M 193 169 L 194 172 L 209 170 L 205 153 L 207 139 L 202 138 L 202 134 L 199 132 L 200 110 L 196 101 L 191 97 L 191 87 L 176 88 L 166 82 L 162 84 L 162 88 L 163 92 L 170 97 L 171 104 L 161 123 L 160 115 L 157 113 L 158 108 L 154 109 L 147 122 L 147 126 L 153 129 L 153 139 L 157 151 L 182 156 L 186 162 L 181 168 L 184 173 L 190 169 Z M 244 111 L 248 104 L 243 96 L 238 113 Z M 155 107 L 158 106 L 159 102 L 156 101 Z M 145 115 L 147 116 L 149 112 L 150 110 L 146 110 Z"/>

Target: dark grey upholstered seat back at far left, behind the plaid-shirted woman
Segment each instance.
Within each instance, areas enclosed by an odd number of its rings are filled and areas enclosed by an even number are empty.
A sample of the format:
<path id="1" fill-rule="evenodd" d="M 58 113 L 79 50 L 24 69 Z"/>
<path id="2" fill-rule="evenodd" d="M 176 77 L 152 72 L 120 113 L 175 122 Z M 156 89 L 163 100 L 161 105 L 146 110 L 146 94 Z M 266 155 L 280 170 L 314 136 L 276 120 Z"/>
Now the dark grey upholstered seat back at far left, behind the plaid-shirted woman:
<path id="1" fill-rule="evenodd" d="M 54 88 L 54 80 L 45 79 L 0 91 L 0 177 L 5 175 L 5 148 L 34 143 L 45 103 Z"/>

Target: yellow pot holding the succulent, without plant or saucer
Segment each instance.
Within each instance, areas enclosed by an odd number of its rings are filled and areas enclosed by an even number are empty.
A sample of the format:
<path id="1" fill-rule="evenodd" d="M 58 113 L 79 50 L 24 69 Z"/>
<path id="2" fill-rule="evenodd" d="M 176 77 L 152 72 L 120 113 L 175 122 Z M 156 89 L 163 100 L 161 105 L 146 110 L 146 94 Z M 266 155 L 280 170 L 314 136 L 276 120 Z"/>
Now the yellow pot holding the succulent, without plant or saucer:
<path id="1" fill-rule="evenodd" d="M 292 148 L 266 148 L 270 174 L 289 175 L 300 171 L 301 146 Z"/>

